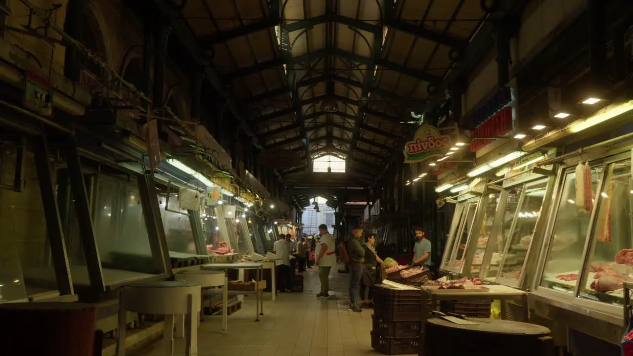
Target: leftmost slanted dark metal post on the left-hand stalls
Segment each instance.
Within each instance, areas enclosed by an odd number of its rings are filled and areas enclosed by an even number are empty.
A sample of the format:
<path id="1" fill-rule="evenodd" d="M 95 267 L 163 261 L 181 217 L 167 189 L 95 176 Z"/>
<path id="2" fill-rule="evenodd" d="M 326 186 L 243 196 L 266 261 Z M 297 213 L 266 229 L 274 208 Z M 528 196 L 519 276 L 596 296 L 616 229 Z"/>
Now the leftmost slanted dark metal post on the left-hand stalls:
<path id="1" fill-rule="evenodd" d="M 46 234 L 51 254 L 53 255 L 53 267 L 57 279 L 57 288 L 61 295 L 73 295 L 72 274 L 70 273 L 70 262 L 66 254 L 66 243 L 64 231 L 61 226 L 60 209 L 55 195 L 53 184 L 53 174 L 48 161 L 48 149 L 44 136 L 33 137 L 33 149 L 35 153 L 35 169 L 39 181 L 40 193 L 42 195 L 42 205 L 44 206 L 44 216 L 46 217 Z"/>

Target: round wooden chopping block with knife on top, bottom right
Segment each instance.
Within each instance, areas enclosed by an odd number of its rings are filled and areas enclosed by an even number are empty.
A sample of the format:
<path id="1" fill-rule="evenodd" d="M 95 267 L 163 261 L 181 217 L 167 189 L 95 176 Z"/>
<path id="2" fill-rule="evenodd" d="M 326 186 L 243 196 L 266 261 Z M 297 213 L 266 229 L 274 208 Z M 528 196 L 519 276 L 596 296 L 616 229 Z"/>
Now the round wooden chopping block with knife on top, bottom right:
<path id="1" fill-rule="evenodd" d="M 477 324 L 459 325 L 444 319 L 429 319 L 422 334 L 421 355 L 553 355 L 553 340 L 547 327 L 498 319 L 467 318 L 467 321 Z"/>

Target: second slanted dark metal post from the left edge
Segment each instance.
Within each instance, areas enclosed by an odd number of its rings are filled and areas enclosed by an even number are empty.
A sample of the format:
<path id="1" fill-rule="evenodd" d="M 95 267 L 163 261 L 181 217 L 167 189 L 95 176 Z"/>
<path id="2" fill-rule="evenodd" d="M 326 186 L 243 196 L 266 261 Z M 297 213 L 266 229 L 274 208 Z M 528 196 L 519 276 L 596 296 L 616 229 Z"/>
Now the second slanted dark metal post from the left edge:
<path id="1" fill-rule="evenodd" d="M 74 140 L 74 137 L 72 138 Z M 79 225 L 79 235 L 84 248 L 85 262 L 88 268 L 88 276 L 91 287 L 98 292 L 106 290 L 101 269 L 101 257 L 97 238 L 94 234 L 94 226 L 90 213 L 90 201 L 85 189 L 84 172 L 79 159 L 77 146 L 73 143 L 64 149 L 66 163 L 68 164 L 68 175 L 70 176 L 70 188 L 75 200 L 75 210 L 77 212 L 77 222 Z"/>

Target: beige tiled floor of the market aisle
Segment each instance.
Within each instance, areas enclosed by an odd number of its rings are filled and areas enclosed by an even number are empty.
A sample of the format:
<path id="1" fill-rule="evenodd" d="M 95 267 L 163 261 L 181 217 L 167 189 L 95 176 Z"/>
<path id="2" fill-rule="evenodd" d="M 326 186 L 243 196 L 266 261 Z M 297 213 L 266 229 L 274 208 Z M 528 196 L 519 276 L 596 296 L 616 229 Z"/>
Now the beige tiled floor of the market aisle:
<path id="1" fill-rule="evenodd" d="M 348 312 L 348 279 L 335 270 L 330 275 L 329 300 L 317 299 L 320 289 L 316 268 L 304 274 L 304 293 L 280 294 L 272 302 L 265 294 L 260 322 L 254 321 L 254 296 L 245 297 L 242 309 L 229 316 L 229 332 L 220 333 L 220 317 L 200 324 L 198 355 L 225 356 L 360 356 L 372 350 L 372 312 Z M 184 342 L 177 340 L 175 355 Z M 157 342 L 134 356 L 165 355 Z"/>

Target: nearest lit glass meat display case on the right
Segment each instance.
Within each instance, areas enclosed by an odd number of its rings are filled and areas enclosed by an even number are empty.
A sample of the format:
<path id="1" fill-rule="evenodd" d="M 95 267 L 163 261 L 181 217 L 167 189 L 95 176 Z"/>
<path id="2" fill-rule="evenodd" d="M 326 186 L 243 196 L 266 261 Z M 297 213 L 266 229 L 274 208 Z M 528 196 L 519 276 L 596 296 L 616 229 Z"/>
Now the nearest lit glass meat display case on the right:
<path id="1" fill-rule="evenodd" d="M 616 344 L 624 330 L 622 284 L 633 280 L 630 145 L 561 158 L 530 292 L 540 317 Z"/>

